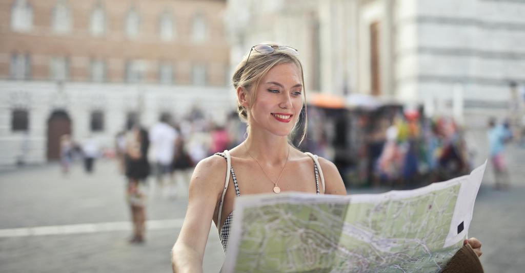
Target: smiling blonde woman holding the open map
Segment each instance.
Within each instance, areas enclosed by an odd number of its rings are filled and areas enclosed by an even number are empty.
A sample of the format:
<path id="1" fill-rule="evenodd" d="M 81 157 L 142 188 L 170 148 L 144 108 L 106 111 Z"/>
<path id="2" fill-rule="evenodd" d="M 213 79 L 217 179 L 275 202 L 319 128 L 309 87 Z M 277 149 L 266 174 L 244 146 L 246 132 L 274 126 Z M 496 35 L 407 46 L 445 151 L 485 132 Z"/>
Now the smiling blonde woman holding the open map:
<path id="1" fill-rule="evenodd" d="M 297 55 L 291 47 L 261 44 L 252 47 L 236 68 L 233 85 L 239 116 L 248 124 L 248 137 L 229 152 L 205 158 L 195 167 L 186 218 L 173 246 L 173 271 L 202 272 L 212 220 L 227 249 L 236 196 L 281 191 L 346 194 L 332 162 L 305 154 L 290 144 L 306 101 Z M 304 132 L 306 128 L 301 139 Z M 232 176 L 223 194 L 227 154 Z M 472 239 L 471 244 L 477 242 Z"/>

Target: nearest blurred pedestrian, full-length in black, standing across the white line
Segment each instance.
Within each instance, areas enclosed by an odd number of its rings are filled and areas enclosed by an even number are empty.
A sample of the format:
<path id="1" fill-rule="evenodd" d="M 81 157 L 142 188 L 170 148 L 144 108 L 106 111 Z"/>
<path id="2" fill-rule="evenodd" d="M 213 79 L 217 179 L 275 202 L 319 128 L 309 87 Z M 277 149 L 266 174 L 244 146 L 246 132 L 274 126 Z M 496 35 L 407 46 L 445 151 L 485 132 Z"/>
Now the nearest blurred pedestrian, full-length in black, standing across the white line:
<path id="1" fill-rule="evenodd" d="M 130 243 L 143 243 L 146 221 L 146 178 L 150 174 L 147 155 L 150 145 L 148 132 L 134 127 L 126 136 L 126 177 L 128 178 L 128 202 L 133 222 Z"/>

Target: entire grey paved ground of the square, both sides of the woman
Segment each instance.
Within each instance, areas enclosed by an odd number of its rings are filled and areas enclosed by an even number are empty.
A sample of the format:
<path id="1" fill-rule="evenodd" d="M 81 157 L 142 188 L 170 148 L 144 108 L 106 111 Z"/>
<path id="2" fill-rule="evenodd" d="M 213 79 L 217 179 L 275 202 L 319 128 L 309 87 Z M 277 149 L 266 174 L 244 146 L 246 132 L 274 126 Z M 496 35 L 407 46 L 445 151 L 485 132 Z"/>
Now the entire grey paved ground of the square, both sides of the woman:
<path id="1" fill-rule="evenodd" d="M 482 132 L 468 138 L 485 160 Z M 508 147 L 511 188 L 492 188 L 485 173 L 469 236 L 483 243 L 486 272 L 523 272 L 525 260 L 525 148 Z M 112 161 L 97 162 L 86 175 L 75 166 L 62 176 L 58 165 L 0 174 L 0 272 L 170 272 L 170 250 L 180 231 L 187 196 L 159 196 L 150 189 L 144 245 L 130 245 L 131 226 L 124 201 L 124 178 Z M 358 190 L 354 193 L 373 192 Z M 86 225 L 92 224 L 92 225 Z M 36 228 L 35 228 L 36 227 Z M 217 272 L 224 259 L 217 230 L 206 247 L 205 272 Z"/>

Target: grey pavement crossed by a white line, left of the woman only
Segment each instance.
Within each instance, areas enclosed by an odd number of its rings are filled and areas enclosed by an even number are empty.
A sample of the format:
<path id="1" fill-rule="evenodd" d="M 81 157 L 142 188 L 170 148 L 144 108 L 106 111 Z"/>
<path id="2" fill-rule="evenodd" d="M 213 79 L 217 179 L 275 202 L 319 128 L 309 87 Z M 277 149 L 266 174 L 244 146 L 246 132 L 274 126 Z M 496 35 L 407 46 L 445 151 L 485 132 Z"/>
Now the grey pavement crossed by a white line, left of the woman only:
<path id="1" fill-rule="evenodd" d="M 145 244 L 130 245 L 125 180 L 114 162 L 97 162 L 92 175 L 75 166 L 62 176 L 54 164 L 0 174 L 0 272 L 171 272 L 187 196 L 163 197 L 151 182 L 154 229 Z M 14 232 L 27 227 L 40 235 Z M 224 254 L 215 227 L 209 238 L 205 272 L 217 272 Z"/>

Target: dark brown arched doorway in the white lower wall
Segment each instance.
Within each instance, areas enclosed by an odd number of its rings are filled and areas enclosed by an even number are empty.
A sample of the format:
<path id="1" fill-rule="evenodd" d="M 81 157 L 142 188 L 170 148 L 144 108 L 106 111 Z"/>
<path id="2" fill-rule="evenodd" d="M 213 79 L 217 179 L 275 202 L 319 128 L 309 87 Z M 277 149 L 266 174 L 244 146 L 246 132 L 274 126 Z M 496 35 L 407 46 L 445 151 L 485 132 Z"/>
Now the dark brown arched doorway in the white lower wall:
<path id="1" fill-rule="evenodd" d="M 71 119 L 66 111 L 56 110 L 47 121 L 47 160 L 60 159 L 60 137 L 71 135 Z"/>

